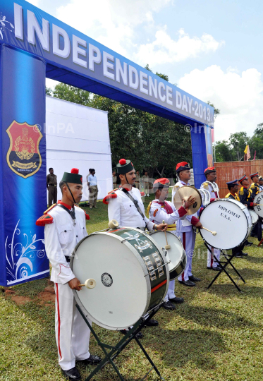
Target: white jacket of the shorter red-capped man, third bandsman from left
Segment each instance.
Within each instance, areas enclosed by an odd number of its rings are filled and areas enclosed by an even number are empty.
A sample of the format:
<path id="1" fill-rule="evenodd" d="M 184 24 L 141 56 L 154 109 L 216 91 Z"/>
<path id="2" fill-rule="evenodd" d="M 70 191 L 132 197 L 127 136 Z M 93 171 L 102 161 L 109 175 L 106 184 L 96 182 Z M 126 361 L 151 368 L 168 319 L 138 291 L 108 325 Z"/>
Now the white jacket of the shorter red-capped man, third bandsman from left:
<path id="1" fill-rule="evenodd" d="M 169 205 L 172 213 L 168 213 L 165 209 L 165 204 Z M 159 202 L 159 200 L 153 200 L 151 207 L 149 209 L 149 219 L 154 222 L 154 224 L 162 224 L 164 221 L 165 224 L 175 224 L 178 219 L 185 219 L 186 210 L 184 207 L 176 210 L 176 207 L 173 205 L 173 202 L 164 201 Z"/>

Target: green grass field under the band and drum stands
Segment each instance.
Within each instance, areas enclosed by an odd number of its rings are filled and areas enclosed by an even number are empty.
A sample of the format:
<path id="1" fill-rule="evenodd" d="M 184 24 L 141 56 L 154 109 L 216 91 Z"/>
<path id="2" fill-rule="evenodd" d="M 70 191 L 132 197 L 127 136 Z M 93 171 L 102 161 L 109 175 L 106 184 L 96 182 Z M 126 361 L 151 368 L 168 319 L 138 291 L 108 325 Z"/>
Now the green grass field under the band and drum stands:
<path id="1" fill-rule="evenodd" d="M 145 206 L 150 199 L 146 198 Z M 91 217 L 89 233 L 106 228 L 106 205 L 98 202 L 97 210 L 86 211 Z M 193 289 L 176 282 L 176 294 L 183 296 L 185 303 L 175 311 L 161 308 L 156 315 L 159 327 L 143 329 L 142 343 L 166 380 L 263 380 L 263 246 L 257 248 L 255 238 L 250 241 L 255 245 L 247 248 L 248 258 L 233 261 L 246 280 L 246 284 L 238 282 L 243 292 L 225 275 L 207 291 L 214 272 L 207 270 L 207 250 L 197 236 L 193 273 L 202 282 Z M 233 271 L 231 274 L 236 279 Z M 54 303 L 40 304 L 39 293 L 46 286 L 47 279 L 13 286 L 17 296 L 27 296 L 24 305 L 0 294 L 0 380 L 65 380 L 57 365 Z M 121 339 L 118 332 L 94 327 L 102 341 L 115 344 Z M 94 337 L 90 351 L 102 356 Z M 129 381 L 141 380 L 150 368 L 136 343 L 129 344 L 116 364 Z M 92 369 L 80 368 L 82 380 Z M 92 380 L 115 381 L 118 377 L 107 365 Z M 150 373 L 147 380 L 158 378 Z"/>

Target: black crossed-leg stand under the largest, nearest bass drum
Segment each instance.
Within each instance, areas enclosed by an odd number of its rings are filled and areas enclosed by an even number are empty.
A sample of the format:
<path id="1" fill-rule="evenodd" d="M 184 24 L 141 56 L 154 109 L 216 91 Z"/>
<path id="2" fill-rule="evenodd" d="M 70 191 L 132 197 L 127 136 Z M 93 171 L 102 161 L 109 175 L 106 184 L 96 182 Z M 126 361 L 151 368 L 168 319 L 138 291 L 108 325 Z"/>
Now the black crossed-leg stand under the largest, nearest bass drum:
<path id="1" fill-rule="evenodd" d="M 85 317 L 84 313 L 82 312 L 82 310 L 80 309 L 80 306 L 78 306 L 78 303 L 76 303 L 76 307 L 78 308 L 79 312 L 80 312 L 80 315 L 82 315 L 83 319 L 85 320 L 86 324 L 88 325 L 88 327 L 90 328 L 90 331 L 92 332 L 94 338 L 97 340 L 97 343 L 99 344 L 99 346 L 102 348 L 102 351 L 104 351 L 104 354 L 105 354 L 105 357 L 102 359 L 102 361 L 99 363 L 99 365 L 97 365 L 97 368 L 95 368 L 93 370 L 92 373 L 90 373 L 90 375 L 86 378 L 85 381 L 89 381 L 92 379 L 92 377 L 99 372 L 99 370 L 101 370 L 102 368 L 104 368 L 104 366 L 107 364 L 107 363 L 111 363 L 112 367 L 114 368 L 114 370 L 116 371 L 118 377 L 120 378 L 121 381 L 125 381 L 125 379 L 123 378 L 123 376 L 121 375 L 121 373 L 118 371 L 118 368 L 116 367 L 116 365 L 114 364 L 114 359 L 123 351 L 123 349 L 126 348 L 126 346 L 130 343 L 130 341 L 132 341 L 133 339 L 135 339 L 135 341 L 137 342 L 138 346 L 140 346 L 140 349 L 142 349 L 142 352 L 145 354 L 145 357 L 147 358 L 147 360 L 149 361 L 149 363 L 152 365 L 152 368 L 146 373 L 146 375 L 142 378 L 142 380 L 145 380 L 145 378 L 147 377 L 147 375 L 151 372 L 152 369 L 155 370 L 155 372 L 157 373 L 157 375 L 159 376 L 160 380 L 164 380 L 163 377 L 161 377 L 161 374 L 159 373 L 159 370 L 157 369 L 157 367 L 154 365 L 154 362 L 152 361 L 152 359 L 149 357 L 147 351 L 145 350 L 145 348 L 142 346 L 141 342 L 139 339 L 137 339 L 136 337 L 136 334 L 138 332 L 140 332 L 140 330 L 145 327 L 145 324 L 147 323 L 147 321 L 149 319 L 151 319 L 156 313 L 157 311 L 159 310 L 159 308 L 161 307 L 161 304 L 157 307 L 155 307 L 150 313 L 149 315 L 147 316 L 146 319 L 140 319 L 137 321 L 137 323 L 133 326 L 133 328 L 130 328 L 127 332 L 126 335 L 123 336 L 123 338 L 118 341 L 118 343 L 115 345 L 115 346 L 112 346 L 112 345 L 108 345 L 108 344 L 105 344 L 105 343 L 102 343 L 102 341 L 100 341 L 99 337 L 97 337 L 97 334 L 94 332 L 94 329 L 92 328 L 92 325 L 90 325 L 90 322 L 87 320 L 87 318 Z M 106 349 L 110 349 L 111 351 L 107 352 Z M 141 381 L 142 381 L 141 380 Z M 165 380 L 164 380 L 165 381 Z"/>

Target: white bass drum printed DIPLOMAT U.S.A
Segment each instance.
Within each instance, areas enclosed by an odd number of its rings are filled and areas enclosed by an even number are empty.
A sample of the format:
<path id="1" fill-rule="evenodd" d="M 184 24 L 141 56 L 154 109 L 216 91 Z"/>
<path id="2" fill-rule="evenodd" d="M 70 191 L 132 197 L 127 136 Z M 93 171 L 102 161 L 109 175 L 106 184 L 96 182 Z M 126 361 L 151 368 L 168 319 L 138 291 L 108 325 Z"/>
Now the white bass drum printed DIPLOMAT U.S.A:
<path id="1" fill-rule="evenodd" d="M 213 236 L 209 231 L 200 229 L 204 241 L 221 250 L 239 246 L 252 229 L 252 219 L 247 207 L 231 198 L 215 200 L 204 207 L 200 222 L 205 228 L 216 231 L 216 236 Z"/>

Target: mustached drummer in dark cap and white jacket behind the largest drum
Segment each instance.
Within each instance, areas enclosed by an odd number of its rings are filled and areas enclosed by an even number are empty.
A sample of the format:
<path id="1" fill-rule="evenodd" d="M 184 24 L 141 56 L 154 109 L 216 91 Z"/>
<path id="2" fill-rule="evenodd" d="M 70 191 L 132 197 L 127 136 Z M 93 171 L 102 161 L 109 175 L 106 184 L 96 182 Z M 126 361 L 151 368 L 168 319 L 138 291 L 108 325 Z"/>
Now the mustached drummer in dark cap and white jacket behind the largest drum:
<path id="1" fill-rule="evenodd" d="M 116 219 L 120 226 L 129 226 L 142 230 L 147 228 L 149 231 L 164 231 L 167 229 L 167 224 L 154 224 L 154 222 L 145 217 L 145 207 L 140 190 L 133 188 L 136 179 L 133 163 L 130 160 L 121 159 L 116 168 L 121 180 L 121 187 L 116 191 L 109 192 L 103 200 L 104 204 L 109 204 L 109 221 Z M 128 195 L 135 202 L 130 200 Z M 148 326 L 156 326 L 158 324 L 157 320 L 154 319 L 150 319 L 147 322 Z M 140 334 L 140 337 L 142 337 L 142 334 Z"/>

